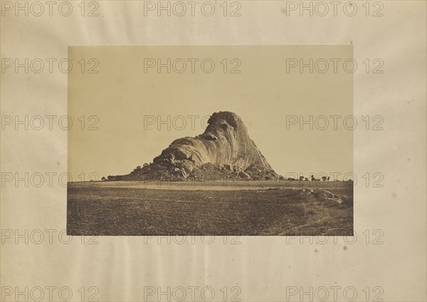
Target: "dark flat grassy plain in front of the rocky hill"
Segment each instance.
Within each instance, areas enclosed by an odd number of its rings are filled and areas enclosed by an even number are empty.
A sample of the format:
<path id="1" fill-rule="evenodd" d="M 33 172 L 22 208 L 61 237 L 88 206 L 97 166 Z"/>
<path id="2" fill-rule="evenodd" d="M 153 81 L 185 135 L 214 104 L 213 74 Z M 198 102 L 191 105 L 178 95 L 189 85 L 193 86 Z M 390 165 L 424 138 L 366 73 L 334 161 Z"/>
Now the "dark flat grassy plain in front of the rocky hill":
<path id="1" fill-rule="evenodd" d="M 344 182 L 70 183 L 67 230 L 106 236 L 352 236 L 353 187 Z"/>

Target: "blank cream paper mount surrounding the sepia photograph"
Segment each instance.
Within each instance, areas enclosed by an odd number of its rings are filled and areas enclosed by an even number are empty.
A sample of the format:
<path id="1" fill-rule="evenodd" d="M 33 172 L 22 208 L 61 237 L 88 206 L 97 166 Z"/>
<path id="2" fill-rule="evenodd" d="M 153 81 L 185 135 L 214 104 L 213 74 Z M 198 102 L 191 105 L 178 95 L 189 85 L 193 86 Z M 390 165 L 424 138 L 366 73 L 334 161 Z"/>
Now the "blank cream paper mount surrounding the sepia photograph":
<path id="1" fill-rule="evenodd" d="M 8 12 L 1 16 L 1 58 L 60 60 L 67 57 L 68 46 L 85 45 L 348 44 L 354 45 L 357 61 L 381 58 L 384 73 L 354 74 L 354 115 L 382 115 L 385 121 L 381 132 L 354 132 L 354 172 L 384 174 L 382 188 L 355 187 L 356 242 L 241 237 L 240 244 L 229 238 L 227 244 L 222 238 L 212 244 L 200 238 L 167 244 L 159 238 L 98 237 L 91 242 L 97 244 L 88 244 L 88 238 L 82 244 L 78 237 L 65 244 L 68 238 L 58 234 L 65 229 L 66 188 L 12 184 L 1 187 L 4 291 L 28 286 L 36 295 L 34 288 L 41 286 L 46 296 L 46 287 L 56 286 L 53 300 L 59 301 L 66 290 L 59 297 L 58 288 L 68 286 L 72 301 L 80 301 L 84 286 L 87 301 L 95 286 L 99 301 L 144 301 L 148 286 L 162 291 L 210 286 L 214 300 L 221 301 L 221 288 L 230 292 L 238 286 L 242 301 L 286 301 L 290 286 L 298 291 L 312 286 L 317 295 L 319 288 L 329 288 L 328 301 L 333 301 L 330 288 L 340 286 L 338 298 L 344 299 L 342 290 L 352 287 L 356 301 L 365 301 L 369 286 L 371 300 L 384 290 L 384 301 L 426 301 L 426 2 L 381 1 L 384 16 L 379 17 L 364 16 L 364 1 L 354 2 L 363 13 L 353 17 L 287 16 L 286 1 L 240 2 L 238 17 L 144 16 L 142 1 L 98 1 L 97 17 L 80 16 L 80 1 L 70 1 L 74 11 L 68 17 L 55 9 L 53 16 L 39 17 Z M 65 73 L 1 73 L 1 115 L 66 114 Z M 63 130 L 1 133 L 1 172 L 59 175 L 66 172 L 66 162 Z M 6 239 L 3 230 L 9 229 L 24 234 L 18 244 Z M 41 244 L 34 244 L 34 230 L 44 234 Z M 368 243 L 362 235 L 366 230 Z M 383 244 L 373 244 L 375 230 L 384 234 Z M 51 242 L 48 234 L 53 234 Z"/>

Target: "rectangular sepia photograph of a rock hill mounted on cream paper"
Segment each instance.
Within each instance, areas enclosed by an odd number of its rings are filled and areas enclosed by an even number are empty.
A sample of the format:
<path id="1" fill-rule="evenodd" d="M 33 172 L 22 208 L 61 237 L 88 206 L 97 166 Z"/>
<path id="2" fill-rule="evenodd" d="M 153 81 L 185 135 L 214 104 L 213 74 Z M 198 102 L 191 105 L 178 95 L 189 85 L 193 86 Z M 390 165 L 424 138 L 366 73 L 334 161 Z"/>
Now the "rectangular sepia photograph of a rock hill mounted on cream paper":
<path id="1" fill-rule="evenodd" d="M 68 234 L 352 236 L 352 46 L 68 52 Z"/>

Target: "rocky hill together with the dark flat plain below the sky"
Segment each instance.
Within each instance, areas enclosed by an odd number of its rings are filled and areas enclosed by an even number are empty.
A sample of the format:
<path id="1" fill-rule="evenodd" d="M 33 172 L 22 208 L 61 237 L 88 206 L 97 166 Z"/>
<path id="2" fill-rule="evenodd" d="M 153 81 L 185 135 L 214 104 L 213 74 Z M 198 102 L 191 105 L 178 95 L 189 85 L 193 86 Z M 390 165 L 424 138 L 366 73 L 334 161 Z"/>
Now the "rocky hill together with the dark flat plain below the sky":
<path id="1" fill-rule="evenodd" d="M 352 236 L 352 181 L 285 178 L 238 115 L 208 124 L 127 175 L 70 182 L 68 234 Z"/>

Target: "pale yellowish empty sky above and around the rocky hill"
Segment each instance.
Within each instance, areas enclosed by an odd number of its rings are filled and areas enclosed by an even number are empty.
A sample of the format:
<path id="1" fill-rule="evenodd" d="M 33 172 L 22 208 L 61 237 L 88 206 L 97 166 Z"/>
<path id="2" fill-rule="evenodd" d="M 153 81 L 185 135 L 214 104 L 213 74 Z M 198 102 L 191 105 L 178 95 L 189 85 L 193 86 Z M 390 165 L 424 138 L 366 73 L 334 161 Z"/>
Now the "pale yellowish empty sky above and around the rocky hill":
<path id="1" fill-rule="evenodd" d="M 73 62 L 83 58 L 85 73 L 83 64 L 74 63 L 68 75 L 68 115 L 73 119 L 68 172 L 73 179 L 82 172 L 100 177 L 127 174 L 152 162 L 176 138 L 204 132 L 202 118 L 218 111 L 233 111 L 242 118 L 251 139 L 280 175 L 352 172 L 353 133 L 343 127 L 343 118 L 334 130 L 330 118 L 352 115 L 352 73 L 344 72 L 342 63 L 334 73 L 330 61 L 352 58 L 352 52 L 352 46 L 70 46 L 68 57 Z M 94 69 L 98 73 L 87 73 L 95 66 L 90 58 L 99 62 Z M 167 63 L 168 58 L 171 73 L 167 67 L 160 73 L 157 66 L 149 67 L 157 59 Z M 324 58 L 330 66 L 325 73 L 310 73 L 308 67 L 303 73 L 299 68 L 287 72 L 287 58 L 305 63 Z M 186 70 L 175 72 L 182 70 L 183 61 Z M 207 73 L 212 61 L 214 71 Z M 325 68 L 319 62 L 317 68 Z M 231 68 L 241 73 L 230 73 Z M 85 130 L 77 120 L 82 115 Z M 99 120 L 88 120 L 91 115 Z M 305 120 L 325 115 L 330 125 L 326 130 L 309 130 L 309 125 L 300 130 L 297 124 L 287 130 L 287 115 Z M 158 116 L 163 121 L 170 116 L 170 130 L 168 123 L 158 125 Z M 323 119 L 317 121 L 325 125 Z M 88 130 L 95 122 L 99 130 Z"/>

